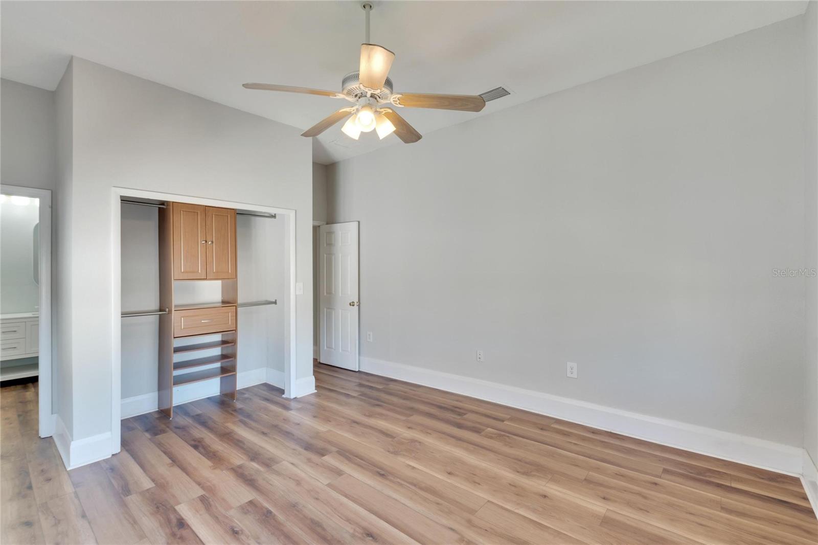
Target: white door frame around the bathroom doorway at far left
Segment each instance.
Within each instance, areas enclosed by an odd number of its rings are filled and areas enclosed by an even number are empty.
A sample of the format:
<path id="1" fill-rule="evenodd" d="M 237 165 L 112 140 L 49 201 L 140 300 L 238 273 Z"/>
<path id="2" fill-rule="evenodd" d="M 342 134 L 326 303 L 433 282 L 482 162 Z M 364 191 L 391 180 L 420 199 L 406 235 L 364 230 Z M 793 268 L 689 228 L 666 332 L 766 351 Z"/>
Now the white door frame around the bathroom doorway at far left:
<path id="1" fill-rule="evenodd" d="M 54 435 L 56 415 L 52 412 L 52 192 L 49 189 L 0 184 L 4 195 L 27 196 L 40 200 L 39 251 L 39 344 L 38 416 L 40 437 Z"/>

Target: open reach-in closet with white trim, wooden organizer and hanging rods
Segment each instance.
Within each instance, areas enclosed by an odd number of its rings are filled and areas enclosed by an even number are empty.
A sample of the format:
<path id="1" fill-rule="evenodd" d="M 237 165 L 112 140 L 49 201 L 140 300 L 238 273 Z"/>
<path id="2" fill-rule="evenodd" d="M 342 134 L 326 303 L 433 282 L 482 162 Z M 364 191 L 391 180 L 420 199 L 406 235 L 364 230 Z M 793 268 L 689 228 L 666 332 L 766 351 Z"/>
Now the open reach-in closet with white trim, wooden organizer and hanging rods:
<path id="1" fill-rule="evenodd" d="M 115 190 L 115 421 L 294 392 L 294 210 Z M 176 414 L 178 417 L 178 414 Z M 119 452 L 121 426 L 112 426 Z"/>

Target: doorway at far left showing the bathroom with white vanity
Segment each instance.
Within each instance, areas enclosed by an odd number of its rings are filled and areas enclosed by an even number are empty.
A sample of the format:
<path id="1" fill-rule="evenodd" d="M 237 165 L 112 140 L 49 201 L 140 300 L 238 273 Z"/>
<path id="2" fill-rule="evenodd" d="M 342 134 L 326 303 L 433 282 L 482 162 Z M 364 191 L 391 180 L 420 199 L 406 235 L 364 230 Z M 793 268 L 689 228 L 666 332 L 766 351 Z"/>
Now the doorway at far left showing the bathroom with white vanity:
<path id="1" fill-rule="evenodd" d="M 38 435 L 50 437 L 51 191 L 0 185 L 0 236 L 0 387 L 36 391 Z"/>

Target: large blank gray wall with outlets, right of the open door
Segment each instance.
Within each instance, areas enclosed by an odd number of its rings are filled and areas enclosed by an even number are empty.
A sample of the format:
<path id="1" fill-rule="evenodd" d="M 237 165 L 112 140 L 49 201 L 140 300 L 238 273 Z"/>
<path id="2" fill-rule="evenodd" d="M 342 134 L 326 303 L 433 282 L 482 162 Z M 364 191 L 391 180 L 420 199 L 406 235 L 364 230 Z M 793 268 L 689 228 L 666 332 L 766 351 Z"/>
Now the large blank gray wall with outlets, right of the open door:
<path id="1" fill-rule="evenodd" d="M 800 446 L 802 25 L 331 165 L 362 357 Z"/>

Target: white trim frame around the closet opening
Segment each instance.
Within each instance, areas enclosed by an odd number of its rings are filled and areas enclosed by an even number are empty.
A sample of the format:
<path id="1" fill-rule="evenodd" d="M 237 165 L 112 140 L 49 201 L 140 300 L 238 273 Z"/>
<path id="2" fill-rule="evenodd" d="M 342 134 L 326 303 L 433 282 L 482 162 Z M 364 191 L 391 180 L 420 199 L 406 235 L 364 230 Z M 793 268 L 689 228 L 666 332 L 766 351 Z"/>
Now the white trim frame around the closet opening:
<path id="1" fill-rule="evenodd" d="M 297 327 L 295 317 L 295 210 L 289 208 L 278 208 L 276 206 L 256 205 L 245 202 L 235 202 L 231 200 L 208 199 L 189 195 L 176 195 L 173 193 L 163 193 L 160 191 L 143 191 L 141 189 L 130 189 L 128 187 L 111 188 L 111 289 L 113 300 L 110 309 L 111 327 L 111 453 L 119 453 L 121 450 L 122 426 L 122 217 L 121 203 L 122 197 L 137 197 L 142 199 L 165 200 L 172 202 L 184 202 L 191 205 L 216 206 L 219 208 L 232 208 L 263 212 L 265 214 L 276 214 L 276 221 L 285 222 L 285 252 L 290 261 L 287 270 L 289 276 L 290 289 L 282 294 L 284 299 L 285 313 L 288 319 L 285 321 L 284 331 L 284 397 L 292 398 L 297 392 L 295 387 L 296 373 L 294 366 L 298 362 L 297 350 L 298 340 L 296 338 Z"/>

